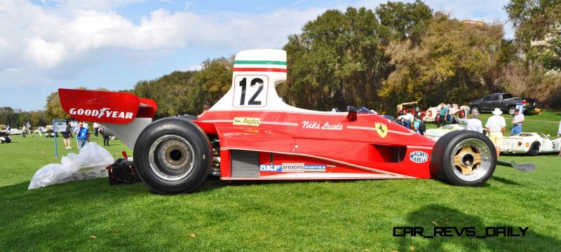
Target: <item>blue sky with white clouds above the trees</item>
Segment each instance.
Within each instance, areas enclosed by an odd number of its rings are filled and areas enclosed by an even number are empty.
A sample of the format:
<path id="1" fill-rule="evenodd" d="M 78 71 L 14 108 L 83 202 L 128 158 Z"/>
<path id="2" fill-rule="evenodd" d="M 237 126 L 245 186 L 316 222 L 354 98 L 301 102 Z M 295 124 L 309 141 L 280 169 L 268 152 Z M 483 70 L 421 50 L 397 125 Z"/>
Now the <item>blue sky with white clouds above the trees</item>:
<path id="1" fill-rule="evenodd" d="M 43 109 L 59 87 L 132 89 L 205 59 L 281 48 L 325 10 L 385 2 L 0 0 L 0 106 Z M 461 20 L 506 21 L 505 0 L 424 2 Z"/>

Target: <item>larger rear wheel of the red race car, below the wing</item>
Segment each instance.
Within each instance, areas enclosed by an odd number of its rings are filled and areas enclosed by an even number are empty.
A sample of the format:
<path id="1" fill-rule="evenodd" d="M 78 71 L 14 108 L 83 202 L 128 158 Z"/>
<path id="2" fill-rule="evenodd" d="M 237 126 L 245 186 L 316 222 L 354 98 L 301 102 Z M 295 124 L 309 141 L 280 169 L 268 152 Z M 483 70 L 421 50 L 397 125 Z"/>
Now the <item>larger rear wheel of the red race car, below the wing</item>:
<path id="1" fill-rule="evenodd" d="M 151 123 L 135 144 L 134 165 L 140 179 L 160 194 L 187 193 L 207 179 L 212 148 L 204 132 L 184 118 Z"/>

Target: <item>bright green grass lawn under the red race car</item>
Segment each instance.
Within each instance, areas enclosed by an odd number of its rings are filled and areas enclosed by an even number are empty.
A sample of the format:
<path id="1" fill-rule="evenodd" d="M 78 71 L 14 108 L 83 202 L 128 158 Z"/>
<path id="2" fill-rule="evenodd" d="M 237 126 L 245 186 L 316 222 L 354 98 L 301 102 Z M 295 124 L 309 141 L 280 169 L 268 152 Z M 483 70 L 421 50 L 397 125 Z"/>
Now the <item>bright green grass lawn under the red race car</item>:
<path id="1" fill-rule="evenodd" d="M 482 115 L 485 124 L 489 114 Z M 527 116 L 525 131 L 555 135 L 560 113 Z M 507 124 L 510 119 L 506 117 Z M 535 121 L 534 121 L 535 120 Z M 552 123 L 548 123 L 551 121 Z M 433 127 L 429 124 L 428 127 Z M 59 139 L 62 140 L 62 139 Z M 93 141 L 102 145 L 102 139 Z M 126 148 L 111 141 L 110 153 Z M 74 144 L 75 145 L 75 144 Z M 497 167 L 477 188 L 428 179 L 228 182 L 162 196 L 107 179 L 27 190 L 37 169 L 60 163 L 53 139 L 0 144 L 0 251 L 559 251 L 561 158 L 531 173 Z M 44 151 L 44 154 L 43 154 Z M 393 237 L 393 227 L 529 227 L 525 237 Z M 428 232 L 428 231 L 426 231 Z M 520 233 L 520 232 L 518 232 Z"/>

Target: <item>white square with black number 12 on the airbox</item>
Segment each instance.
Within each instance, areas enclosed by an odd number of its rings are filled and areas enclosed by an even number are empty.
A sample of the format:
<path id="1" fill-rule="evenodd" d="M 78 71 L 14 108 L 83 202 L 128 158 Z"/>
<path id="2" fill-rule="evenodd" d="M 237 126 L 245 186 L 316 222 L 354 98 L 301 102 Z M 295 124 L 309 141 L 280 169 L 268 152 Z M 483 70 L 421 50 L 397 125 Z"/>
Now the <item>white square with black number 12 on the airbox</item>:
<path id="1" fill-rule="evenodd" d="M 236 76 L 234 79 L 233 105 L 265 106 L 268 86 L 267 81 L 267 76 Z"/>

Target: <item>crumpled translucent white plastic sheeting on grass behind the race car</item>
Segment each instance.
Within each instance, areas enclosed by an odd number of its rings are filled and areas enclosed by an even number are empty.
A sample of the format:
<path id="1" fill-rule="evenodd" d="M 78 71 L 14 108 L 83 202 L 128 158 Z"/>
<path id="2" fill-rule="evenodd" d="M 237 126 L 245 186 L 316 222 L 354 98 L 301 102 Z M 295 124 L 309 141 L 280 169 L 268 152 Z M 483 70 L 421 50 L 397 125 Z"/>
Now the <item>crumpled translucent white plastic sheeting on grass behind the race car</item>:
<path id="1" fill-rule="evenodd" d="M 69 153 L 62 157 L 60 164 L 49 164 L 39 169 L 27 190 L 58 183 L 107 177 L 105 167 L 114 162 L 113 156 L 98 144 L 90 142 L 83 146 L 79 154 Z"/>

